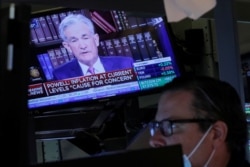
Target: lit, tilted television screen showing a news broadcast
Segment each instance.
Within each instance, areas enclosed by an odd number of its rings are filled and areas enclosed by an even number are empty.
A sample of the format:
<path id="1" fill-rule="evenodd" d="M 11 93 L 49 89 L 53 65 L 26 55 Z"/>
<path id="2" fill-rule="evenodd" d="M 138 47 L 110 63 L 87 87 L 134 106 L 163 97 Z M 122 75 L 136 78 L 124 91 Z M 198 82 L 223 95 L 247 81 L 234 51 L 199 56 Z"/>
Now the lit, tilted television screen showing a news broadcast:
<path id="1" fill-rule="evenodd" d="M 171 38 L 164 17 L 71 8 L 33 13 L 28 108 L 152 93 L 180 75 Z"/>

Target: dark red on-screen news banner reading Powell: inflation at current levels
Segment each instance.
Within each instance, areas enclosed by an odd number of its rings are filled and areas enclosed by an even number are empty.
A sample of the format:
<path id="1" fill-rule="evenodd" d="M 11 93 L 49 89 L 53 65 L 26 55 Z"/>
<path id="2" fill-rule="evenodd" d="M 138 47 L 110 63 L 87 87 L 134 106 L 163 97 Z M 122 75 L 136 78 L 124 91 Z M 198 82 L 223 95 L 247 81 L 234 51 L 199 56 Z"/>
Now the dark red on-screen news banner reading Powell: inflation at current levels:
<path id="1" fill-rule="evenodd" d="M 66 80 L 29 85 L 28 97 L 31 98 L 52 96 L 130 81 L 136 81 L 134 70 L 119 70 L 89 76 L 75 77 Z"/>

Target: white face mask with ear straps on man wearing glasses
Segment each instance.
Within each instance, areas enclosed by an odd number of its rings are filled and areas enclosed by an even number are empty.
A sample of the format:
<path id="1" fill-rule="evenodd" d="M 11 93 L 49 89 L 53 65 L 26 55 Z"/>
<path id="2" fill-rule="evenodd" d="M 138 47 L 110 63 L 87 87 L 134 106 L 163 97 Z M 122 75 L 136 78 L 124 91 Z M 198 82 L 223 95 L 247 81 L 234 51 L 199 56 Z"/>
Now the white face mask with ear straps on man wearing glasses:
<path id="1" fill-rule="evenodd" d="M 193 148 L 193 150 L 191 151 L 191 153 L 187 156 L 187 155 L 183 155 L 183 162 L 184 162 L 184 167 L 192 167 L 191 162 L 189 161 L 189 158 L 195 153 L 195 151 L 199 148 L 199 146 L 201 145 L 201 143 L 204 141 L 204 139 L 207 137 L 208 132 L 211 130 L 212 126 L 210 126 L 208 128 L 208 130 L 206 131 L 206 133 L 202 136 L 202 138 L 200 139 L 200 141 L 196 144 L 196 146 Z M 209 164 L 209 162 L 211 161 L 213 155 L 215 153 L 215 150 L 213 150 L 213 152 L 210 154 L 207 162 L 205 163 L 204 167 L 207 167 L 207 165 Z"/>

